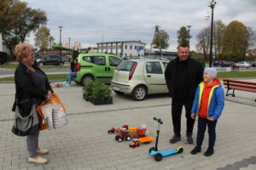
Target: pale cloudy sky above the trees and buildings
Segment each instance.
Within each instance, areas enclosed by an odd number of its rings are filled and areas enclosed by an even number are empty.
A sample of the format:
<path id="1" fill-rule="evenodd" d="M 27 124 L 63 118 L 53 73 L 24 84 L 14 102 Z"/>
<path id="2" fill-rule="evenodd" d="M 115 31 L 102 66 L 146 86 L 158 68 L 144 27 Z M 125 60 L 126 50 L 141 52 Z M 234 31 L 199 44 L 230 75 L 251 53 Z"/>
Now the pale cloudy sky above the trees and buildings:
<path id="1" fill-rule="evenodd" d="M 63 26 L 61 42 L 81 42 L 83 48 L 96 42 L 141 40 L 148 44 L 154 26 L 170 36 L 170 47 L 176 51 L 177 31 L 192 26 L 190 47 L 195 50 L 196 35 L 210 25 L 205 16 L 211 11 L 207 0 L 25 0 L 31 8 L 44 10 L 47 27 L 55 42 L 60 41 L 58 26 Z M 256 31 L 255 0 L 216 0 L 214 20 L 228 25 L 239 20 Z M 102 38 L 103 37 L 103 38 Z M 27 38 L 33 43 L 33 34 Z"/>

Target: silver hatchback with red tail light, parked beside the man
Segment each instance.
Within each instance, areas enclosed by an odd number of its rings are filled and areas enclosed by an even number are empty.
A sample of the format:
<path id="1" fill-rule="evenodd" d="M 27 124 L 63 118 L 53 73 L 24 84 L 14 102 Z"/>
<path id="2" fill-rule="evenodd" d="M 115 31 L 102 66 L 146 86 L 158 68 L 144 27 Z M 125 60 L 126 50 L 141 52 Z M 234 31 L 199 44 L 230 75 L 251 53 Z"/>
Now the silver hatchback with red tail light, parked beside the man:
<path id="1" fill-rule="evenodd" d="M 167 65 L 168 62 L 161 59 L 124 60 L 113 71 L 111 87 L 116 94 L 131 94 L 137 101 L 148 94 L 166 94 Z"/>

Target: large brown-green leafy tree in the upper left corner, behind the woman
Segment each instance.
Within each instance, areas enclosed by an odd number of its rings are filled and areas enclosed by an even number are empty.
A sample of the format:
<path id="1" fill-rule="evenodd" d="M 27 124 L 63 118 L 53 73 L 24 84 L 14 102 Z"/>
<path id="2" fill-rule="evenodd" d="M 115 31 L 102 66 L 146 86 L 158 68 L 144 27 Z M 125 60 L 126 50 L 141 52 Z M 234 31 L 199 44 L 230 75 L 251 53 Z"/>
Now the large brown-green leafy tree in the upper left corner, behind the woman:
<path id="1" fill-rule="evenodd" d="M 40 25 L 46 24 L 44 11 L 27 7 L 27 3 L 19 0 L 1 0 L 0 31 L 3 42 L 13 56 L 13 48 L 19 42 L 24 42 L 31 31 L 36 31 Z"/>

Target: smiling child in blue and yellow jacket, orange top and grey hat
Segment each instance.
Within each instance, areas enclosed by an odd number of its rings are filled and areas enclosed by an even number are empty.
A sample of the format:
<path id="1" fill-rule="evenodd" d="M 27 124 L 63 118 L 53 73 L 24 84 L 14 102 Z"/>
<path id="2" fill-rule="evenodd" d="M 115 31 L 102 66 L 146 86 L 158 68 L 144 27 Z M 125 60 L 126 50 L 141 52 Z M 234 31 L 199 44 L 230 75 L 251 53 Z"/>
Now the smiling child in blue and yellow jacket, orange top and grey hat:
<path id="1" fill-rule="evenodd" d="M 204 80 L 198 85 L 196 90 L 191 110 L 191 118 L 195 119 L 195 117 L 198 116 L 198 130 L 196 146 L 190 152 L 192 155 L 201 152 L 201 144 L 206 128 L 208 128 L 209 143 L 204 156 L 212 156 L 214 152 L 213 147 L 216 140 L 215 127 L 218 117 L 224 109 L 224 88 L 221 86 L 216 76 L 216 69 L 207 68 L 204 71 Z"/>

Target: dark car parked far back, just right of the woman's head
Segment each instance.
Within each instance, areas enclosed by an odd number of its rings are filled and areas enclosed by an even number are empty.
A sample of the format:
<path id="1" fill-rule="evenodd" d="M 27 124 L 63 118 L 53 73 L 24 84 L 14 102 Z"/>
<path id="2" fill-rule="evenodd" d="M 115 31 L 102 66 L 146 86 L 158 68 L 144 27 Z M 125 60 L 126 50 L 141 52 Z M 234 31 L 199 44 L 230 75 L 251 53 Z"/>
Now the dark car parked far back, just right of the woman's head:
<path id="1" fill-rule="evenodd" d="M 65 61 L 56 54 L 44 54 L 36 59 L 38 65 L 64 65 Z"/>

